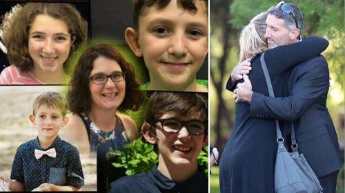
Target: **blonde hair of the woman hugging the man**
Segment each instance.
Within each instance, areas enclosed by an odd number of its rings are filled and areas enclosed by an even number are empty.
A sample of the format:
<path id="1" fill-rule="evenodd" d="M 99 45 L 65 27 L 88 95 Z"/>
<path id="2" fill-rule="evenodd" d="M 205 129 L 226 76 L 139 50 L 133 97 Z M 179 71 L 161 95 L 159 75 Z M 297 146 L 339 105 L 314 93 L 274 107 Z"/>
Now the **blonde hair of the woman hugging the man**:
<path id="1" fill-rule="evenodd" d="M 262 12 L 244 26 L 239 34 L 239 62 L 267 50 L 266 32 L 267 13 Z"/>

